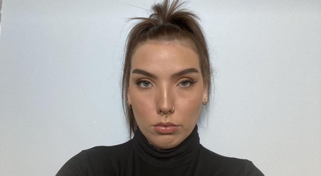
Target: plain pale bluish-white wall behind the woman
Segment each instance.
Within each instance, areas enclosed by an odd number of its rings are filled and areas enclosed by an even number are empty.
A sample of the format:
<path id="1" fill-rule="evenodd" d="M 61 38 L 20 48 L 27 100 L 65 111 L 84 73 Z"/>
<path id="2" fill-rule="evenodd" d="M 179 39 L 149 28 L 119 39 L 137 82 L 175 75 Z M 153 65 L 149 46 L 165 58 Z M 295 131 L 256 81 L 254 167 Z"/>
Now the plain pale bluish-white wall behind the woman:
<path id="1" fill-rule="evenodd" d="M 160 1 L 156 1 L 160 2 Z M 83 149 L 128 140 L 125 18 L 153 0 L 4 0 L 0 175 L 50 176 Z M 265 175 L 321 175 L 321 1 L 193 0 L 215 74 L 201 144 Z"/>

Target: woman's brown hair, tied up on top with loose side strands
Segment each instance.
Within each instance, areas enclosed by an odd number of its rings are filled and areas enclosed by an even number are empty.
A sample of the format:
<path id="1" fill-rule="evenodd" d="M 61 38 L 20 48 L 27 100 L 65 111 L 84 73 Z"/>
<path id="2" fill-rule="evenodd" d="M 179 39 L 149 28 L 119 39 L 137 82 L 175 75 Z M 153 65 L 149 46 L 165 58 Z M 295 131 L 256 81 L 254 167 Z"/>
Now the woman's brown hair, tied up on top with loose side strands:
<path id="1" fill-rule="evenodd" d="M 152 5 L 152 14 L 148 18 L 134 17 L 130 20 L 139 20 L 129 32 L 126 39 L 122 74 L 122 101 L 126 116 L 129 138 L 137 129 L 134 113 L 127 104 L 127 90 L 131 70 L 132 55 L 138 45 L 145 42 L 178 42 L 190 46 L 199 56 L 199 63 L 204 86 L 207 87 L 208 98 L 211 92 L 212 69 L 209 52 L 203 30 L 198 23 L 199 17 L 182 8 L 184 2 L 164 0 L 162 3 Z"/>

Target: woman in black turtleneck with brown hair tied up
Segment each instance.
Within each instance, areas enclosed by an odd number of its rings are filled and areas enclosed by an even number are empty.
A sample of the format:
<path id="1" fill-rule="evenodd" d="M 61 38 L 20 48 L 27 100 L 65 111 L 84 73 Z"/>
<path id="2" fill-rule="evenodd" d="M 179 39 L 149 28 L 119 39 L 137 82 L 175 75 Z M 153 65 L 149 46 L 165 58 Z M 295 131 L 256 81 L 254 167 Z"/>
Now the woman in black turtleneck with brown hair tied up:
<path id="1" fill-rule="evenodd" d="M 122 95 L 133 139 L 71 158 L 57 176 L 263 175 L 252 162 L 199 143 L 197 121 L 208 104 L 211 67 L 197 16 L 164 0 L 127 38 Z"/>

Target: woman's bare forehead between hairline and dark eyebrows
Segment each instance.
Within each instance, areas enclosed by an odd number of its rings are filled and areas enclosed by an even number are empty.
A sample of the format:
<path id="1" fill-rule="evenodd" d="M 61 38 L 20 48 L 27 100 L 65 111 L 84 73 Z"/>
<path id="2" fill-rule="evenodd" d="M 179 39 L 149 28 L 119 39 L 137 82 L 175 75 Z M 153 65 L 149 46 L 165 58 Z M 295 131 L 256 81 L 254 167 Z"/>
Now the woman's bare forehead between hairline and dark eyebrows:
<path id="1" fill-rule="evenodd" d="M 198 54 L 178 42 L 146 42 L 139 45 L 131 60 L 133 69 L 171 71 L 195 68 L 200 71 Z"/>

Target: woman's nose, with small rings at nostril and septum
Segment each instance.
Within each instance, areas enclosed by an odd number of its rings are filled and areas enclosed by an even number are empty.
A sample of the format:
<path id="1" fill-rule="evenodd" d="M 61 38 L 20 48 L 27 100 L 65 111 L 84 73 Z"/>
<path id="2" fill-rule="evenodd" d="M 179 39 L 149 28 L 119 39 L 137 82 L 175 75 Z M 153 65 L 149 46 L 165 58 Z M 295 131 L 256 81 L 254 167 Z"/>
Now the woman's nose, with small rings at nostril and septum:
<path id="1" fill-rule="evenodd" d="M 174 95 L 170 88 L 162 88 L 156 97 L 157 113 L 168 115 L 174 111 Z"/>

